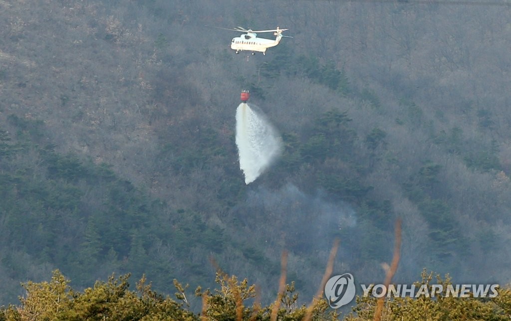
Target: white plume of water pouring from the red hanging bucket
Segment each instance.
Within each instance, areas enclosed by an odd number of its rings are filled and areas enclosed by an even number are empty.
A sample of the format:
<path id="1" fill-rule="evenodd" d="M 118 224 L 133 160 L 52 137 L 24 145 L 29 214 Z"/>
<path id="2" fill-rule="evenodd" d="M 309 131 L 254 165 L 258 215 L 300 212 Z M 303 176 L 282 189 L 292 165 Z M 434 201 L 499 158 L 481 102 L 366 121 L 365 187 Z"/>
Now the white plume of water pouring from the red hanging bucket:
<path id="1" fill-rule="evenodd" d="M 261 111 L 246 103 L 236 110 L 236 145 L 245 184 L 255 181 L 281 154 L 282 140 Z"/>

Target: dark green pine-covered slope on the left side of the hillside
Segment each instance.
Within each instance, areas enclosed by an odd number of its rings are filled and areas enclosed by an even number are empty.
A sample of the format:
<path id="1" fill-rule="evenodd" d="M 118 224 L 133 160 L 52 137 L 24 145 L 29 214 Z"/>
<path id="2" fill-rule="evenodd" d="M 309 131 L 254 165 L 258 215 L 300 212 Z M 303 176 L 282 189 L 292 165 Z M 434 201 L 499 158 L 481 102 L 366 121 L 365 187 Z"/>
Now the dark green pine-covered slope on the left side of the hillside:
<path id="1" fill-rule="evenodd" d="M 174 258 L 187 258 L 194 247 L 222 253 L 230 242 L 222 229 L 203 224 L 200 215 L 169 215 L 164 203 L 119 179 L 107 164 L 60 155 L 51 144 L 20 143 L 19 136 L 11 140 L 5 131 L 0 138 L 0 151 L 6 155 L 0 158 L 0 249 L 6 253 L 2 266 L 10 266 L 10 278 L 21 278 L 33 269 L 31 264 L 55 263 L 77 284 L 127 270 L 137 275 L 157 271 L 162 281 L 175 271 L 154 259 L 155 244 L 163 251 L 172 249 Z M 29 155 L 30 161 L 16 161 Z M 225 184 L 222 188 L 229 188 Z M 183 262 L 184 270 L 198 266 Z M 202 266 L 195 268 L 195 280 L 200 280 L 198 270 L 204 273 Z M 3 295 L 14 300 L 12 293 Z"/>

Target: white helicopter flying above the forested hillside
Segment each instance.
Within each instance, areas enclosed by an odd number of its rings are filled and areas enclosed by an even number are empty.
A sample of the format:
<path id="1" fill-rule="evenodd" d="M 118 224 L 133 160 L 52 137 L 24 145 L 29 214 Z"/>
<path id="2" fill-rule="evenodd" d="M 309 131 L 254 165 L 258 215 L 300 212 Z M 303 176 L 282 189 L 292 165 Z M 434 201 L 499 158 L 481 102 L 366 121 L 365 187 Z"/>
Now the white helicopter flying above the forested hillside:
<path id="1" fill-rule="evenodd" d="M 246 34 L 241 35 L 239 37 L 233 38 L 230 42 L 230 47 L 233 50 L 236 50 L 236 53 L 239 54 L 240 51 L 251 51 L 252 55 L 255 54 L 255 52 L 263 53 L 263 55 L 266 55 L 266 50 L 270 47 L 276 46 L 282 39 L 282 37 L 287 38 L 293 38 L 290 36 L 284 36 L 282 34 L 283 31 L 289 30 L 289 29 L 280 29 L 277 27 L 277 29 L 274 30 L 257 30 L 253 31 L 251 29 L 244 29 L 241 27 L 237 27 L 234 29 L 227 29 L 227 28 L 220 28 L 215 27 L 219 29 L 225 29 L 225 30 L 233 30 L 238 32 L 245 32 Z M 257 33 L 258 32 L 273 32 L 273 35 L 276 36 L 275 40 L 271 39 L 265 39 L 265 38 L 258 38 Z"/>

